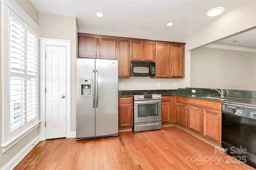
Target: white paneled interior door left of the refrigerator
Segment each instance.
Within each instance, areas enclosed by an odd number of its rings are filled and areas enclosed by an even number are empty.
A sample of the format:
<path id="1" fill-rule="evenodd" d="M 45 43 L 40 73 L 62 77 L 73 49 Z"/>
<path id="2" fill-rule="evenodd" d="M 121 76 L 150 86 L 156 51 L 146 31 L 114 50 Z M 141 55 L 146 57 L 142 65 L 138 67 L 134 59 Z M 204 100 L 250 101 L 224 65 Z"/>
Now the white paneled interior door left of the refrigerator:
<path id="1" fill-rule="evenodd" d="M 66 47 L 46 46 L 46 139 L 66 137 Z"/>

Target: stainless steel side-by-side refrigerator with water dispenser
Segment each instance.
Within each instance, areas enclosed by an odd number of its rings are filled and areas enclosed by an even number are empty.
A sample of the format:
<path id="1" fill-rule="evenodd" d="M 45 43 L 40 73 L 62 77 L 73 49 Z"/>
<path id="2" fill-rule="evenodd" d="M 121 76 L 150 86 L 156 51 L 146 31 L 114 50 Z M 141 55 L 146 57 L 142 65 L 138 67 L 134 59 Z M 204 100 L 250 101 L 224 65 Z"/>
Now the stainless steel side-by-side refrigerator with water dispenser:
<path id="1" fill-rule="evenodd" d="M 76 139 L 118 135 L 118 61 L 76 59 Z"/>

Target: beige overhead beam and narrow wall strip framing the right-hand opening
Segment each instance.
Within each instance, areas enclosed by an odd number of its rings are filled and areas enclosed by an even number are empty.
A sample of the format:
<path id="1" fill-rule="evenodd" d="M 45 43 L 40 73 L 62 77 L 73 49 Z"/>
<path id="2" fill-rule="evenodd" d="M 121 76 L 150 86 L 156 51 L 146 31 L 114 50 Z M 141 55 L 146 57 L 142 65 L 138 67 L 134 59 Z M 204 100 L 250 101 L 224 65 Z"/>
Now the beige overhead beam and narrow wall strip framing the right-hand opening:
<path id="1" fill-rule="evenodd" d="M 185 75 L 190 87 L 190 51 L 256 26 L 256 1 L 249 0 L 181 38 L 186 42 Z"/>

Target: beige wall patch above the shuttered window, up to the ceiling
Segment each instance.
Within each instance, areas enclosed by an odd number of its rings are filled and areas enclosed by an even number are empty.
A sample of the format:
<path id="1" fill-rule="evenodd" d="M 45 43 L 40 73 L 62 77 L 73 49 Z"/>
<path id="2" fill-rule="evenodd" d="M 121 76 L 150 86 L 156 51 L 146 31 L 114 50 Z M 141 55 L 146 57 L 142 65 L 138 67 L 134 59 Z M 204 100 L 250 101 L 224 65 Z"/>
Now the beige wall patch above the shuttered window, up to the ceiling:
<path id="1" fill-rule="evenodd" d="M 38 25 L 39 13 L 29 0 L 14 0 L 26 14 Z"/>

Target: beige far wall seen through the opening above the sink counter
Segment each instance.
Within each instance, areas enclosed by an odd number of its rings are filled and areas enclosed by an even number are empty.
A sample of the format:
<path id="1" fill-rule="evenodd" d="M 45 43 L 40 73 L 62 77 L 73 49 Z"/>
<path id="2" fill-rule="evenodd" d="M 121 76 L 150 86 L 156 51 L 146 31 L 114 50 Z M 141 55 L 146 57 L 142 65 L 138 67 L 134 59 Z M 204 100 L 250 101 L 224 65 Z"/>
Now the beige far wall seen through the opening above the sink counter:
<path id="1" fill-rule="evenodd" d="M 191 87 L 256 90 L 256 53 L 201 47 L 191 51 Z"/>

